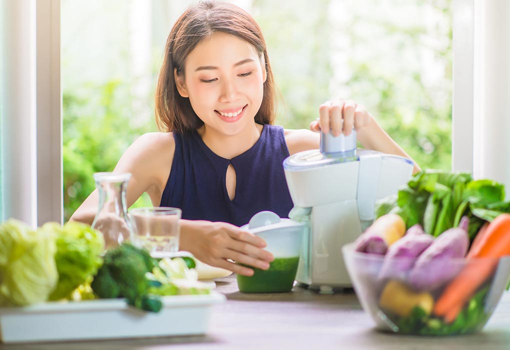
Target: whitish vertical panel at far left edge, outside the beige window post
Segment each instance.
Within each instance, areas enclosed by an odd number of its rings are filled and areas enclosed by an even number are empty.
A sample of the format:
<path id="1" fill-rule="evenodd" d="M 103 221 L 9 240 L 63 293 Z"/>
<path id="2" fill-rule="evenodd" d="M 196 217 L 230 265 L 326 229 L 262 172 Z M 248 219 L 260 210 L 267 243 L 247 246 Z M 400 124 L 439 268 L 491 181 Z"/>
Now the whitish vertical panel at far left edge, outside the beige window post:
<path id="1" fill-rule="evenodd" d="M 35 2 L 2 0 L 3 218 L 35 226 Z"/>

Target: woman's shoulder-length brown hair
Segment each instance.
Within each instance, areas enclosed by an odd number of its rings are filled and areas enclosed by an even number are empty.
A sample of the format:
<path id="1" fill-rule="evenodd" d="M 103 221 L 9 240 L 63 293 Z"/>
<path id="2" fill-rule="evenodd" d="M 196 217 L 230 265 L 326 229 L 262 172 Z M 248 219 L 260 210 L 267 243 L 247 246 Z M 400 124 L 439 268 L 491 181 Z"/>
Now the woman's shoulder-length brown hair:
<path id="1" fill-rule="evenodd" d="M 198 129 L 203 122 L 193 111 L 189 98 L 177 91 L 174 68 L 184 74 L 186 57 L 203 38 L 214 32 L 235 35 L 264 55 L 267 78 L 264 83 L 262 105 L 255 116 L 260 124 L 274 120 L 275 86 L 267 55 L 266 42 L 257 22 L 243 9 L 229 3 L 201 1 L 189 7 L 175 22 L 166 41 L 163 65 L 156 86 L 156 124 L 161 131 L 187 133 Z"/>

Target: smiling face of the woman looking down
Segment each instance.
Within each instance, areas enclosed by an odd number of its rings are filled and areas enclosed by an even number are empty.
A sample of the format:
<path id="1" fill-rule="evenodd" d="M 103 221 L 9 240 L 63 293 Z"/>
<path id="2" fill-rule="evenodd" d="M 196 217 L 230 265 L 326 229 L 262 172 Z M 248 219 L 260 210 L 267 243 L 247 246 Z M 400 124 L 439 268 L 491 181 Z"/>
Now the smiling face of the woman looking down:
<path id="1" fill-rule="evenodd" d="M 254 122 L 264 96 L 265 64 L 232 34 L 214 33 L 188 55 L 177 88 L 207 128 L 233 136 Z"/>

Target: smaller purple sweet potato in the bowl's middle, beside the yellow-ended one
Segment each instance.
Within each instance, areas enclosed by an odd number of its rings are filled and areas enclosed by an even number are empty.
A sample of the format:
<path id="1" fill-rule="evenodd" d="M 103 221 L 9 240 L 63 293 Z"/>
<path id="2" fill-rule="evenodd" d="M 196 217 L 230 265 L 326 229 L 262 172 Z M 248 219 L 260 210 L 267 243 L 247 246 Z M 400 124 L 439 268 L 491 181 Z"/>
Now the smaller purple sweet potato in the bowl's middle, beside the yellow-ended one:
<path id="1" fill-rule="evenodd" d="M 404 280 L 418 256 L 433 240 L 431 235 L 423 231 L 420 224 L 412 226 L 404 237 L 388 248 L 379 278 Z"/>

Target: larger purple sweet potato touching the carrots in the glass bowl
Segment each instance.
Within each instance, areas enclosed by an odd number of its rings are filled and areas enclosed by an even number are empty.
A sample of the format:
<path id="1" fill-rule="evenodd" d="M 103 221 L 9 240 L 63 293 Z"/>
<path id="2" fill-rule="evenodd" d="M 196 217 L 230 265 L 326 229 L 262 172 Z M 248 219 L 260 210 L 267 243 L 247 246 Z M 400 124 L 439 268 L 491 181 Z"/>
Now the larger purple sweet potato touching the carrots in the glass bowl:
<path id="1" fill-rule="evenodd" d="M 469 246 L 465 229 L 468 223 L 469 219 L 463 217 L 458 227 L 443 232 L 418 257 L 408 278 L 416 290 L 436 289 L 460 271 L 460 259 L 466 256 Z"/>

